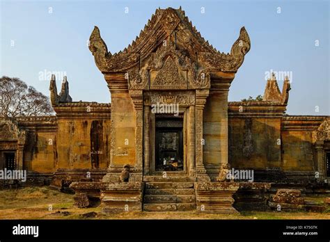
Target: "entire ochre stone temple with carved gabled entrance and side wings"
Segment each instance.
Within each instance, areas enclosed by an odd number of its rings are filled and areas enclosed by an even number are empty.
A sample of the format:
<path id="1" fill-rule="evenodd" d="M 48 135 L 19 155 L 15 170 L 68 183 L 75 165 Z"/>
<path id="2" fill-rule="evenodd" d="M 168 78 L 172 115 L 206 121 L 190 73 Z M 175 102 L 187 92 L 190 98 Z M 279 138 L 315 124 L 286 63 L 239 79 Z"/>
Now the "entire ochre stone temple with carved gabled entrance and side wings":
<path id="1" fill-rule="evenodd" d="M 224 54 L 181 8 L 157 9 L 111 54 L 95 26 L 89 49 L 111 103 L 72 102 L 52 76 L 56 115 L 0 120 L 0 168 L 104 212 L 231 213 L 272 207 L 278 188 L 328 189 L 330 116 L 285 114 L 288 79 L 280 91 L 273 75 L 262 101 L 228 102 L 251 47 L 244 27 L 237 35 Z"/>

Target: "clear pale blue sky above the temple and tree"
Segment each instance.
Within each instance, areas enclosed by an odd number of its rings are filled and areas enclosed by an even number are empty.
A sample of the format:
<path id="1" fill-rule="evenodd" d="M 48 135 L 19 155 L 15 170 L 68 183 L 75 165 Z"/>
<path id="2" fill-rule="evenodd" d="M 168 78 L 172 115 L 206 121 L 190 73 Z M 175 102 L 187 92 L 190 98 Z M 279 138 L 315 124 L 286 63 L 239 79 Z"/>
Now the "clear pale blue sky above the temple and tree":
<path id="1" fill-rule="evenodd" d="M 219 51 L 230 51 L 246 27 L 251 50 L 230 101 L 263 95 L 265 76 L 274 70 L 292 76 L 289 114 L 330 115 L 329 1 L 0 1 L 0 76 L 19 77 L 45 95 L 47 74 L 58 72 L 68 76 L 74 101 L 109 102 L 87 46 L 93 27 L 113 54 L 135 40 L 156 8 L 182 6 Z"/>

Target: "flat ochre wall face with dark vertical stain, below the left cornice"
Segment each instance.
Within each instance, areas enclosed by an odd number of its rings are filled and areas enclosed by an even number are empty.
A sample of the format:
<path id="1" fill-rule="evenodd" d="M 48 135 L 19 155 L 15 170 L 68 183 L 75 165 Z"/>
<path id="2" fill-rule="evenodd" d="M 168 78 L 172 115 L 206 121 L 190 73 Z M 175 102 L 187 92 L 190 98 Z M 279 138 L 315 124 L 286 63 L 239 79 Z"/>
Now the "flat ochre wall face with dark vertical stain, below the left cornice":
<path id="1" fill-rule="evenodd" d="M 58 120 L 58 168 L 107 168 L 110 125 L 97 119 Z"/>

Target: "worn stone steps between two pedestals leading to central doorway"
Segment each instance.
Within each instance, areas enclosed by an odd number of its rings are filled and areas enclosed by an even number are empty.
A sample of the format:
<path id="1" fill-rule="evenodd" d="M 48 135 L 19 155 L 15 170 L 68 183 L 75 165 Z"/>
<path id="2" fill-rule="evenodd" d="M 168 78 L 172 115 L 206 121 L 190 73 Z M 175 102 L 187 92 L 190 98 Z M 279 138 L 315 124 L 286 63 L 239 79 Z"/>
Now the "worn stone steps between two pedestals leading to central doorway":
<path id="1" fill-rule="evenodd" d="M 193 182 L 146 182 L 144 211 L 196 210 Z"/>

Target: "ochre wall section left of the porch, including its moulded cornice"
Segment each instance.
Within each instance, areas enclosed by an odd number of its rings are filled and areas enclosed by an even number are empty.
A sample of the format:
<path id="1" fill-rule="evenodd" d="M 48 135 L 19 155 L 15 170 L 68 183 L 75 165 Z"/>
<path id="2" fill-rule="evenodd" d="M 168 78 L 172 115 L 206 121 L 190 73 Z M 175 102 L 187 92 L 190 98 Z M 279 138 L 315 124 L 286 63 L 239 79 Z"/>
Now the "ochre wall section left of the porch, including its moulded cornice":
<path id="1" fill-rule="evenodd" d="M 106 169 L 110 157 L 110 104 L 56 106 L 57 169 Z"/>

